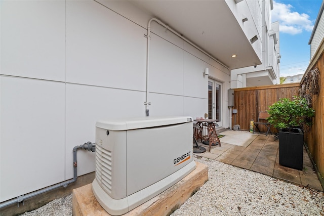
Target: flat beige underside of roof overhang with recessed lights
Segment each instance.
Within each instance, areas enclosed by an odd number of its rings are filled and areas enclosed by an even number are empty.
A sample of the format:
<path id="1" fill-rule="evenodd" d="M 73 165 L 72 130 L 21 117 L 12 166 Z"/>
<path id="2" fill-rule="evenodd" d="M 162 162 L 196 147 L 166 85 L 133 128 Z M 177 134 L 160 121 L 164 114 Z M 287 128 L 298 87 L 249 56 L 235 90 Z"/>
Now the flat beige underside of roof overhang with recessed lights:
<path id="1" fill-rule="evenodd" d="M 261 64 L 225 1 L 131 1 L 167 23 L 229 69 Z M 239 3 L 241 4 L 241 3 Z M 237 57 L 232 58 L 235 54 Z"/>

